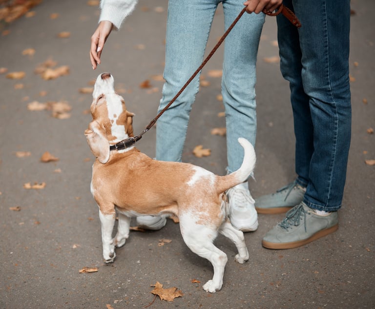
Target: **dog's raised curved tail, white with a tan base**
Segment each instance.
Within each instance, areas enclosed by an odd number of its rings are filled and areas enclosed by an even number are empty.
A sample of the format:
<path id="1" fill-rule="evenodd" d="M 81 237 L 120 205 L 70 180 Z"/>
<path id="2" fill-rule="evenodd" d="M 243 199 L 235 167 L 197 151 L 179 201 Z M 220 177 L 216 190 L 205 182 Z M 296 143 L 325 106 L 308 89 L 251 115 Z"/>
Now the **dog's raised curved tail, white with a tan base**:
<path id="1" fill-rule="evenodd" d="M 244 148 L 244 160 L 239 169 L 229 175 L 222 176 L 218 185 L 218 191 L 224 192 L 232 186 L 238 185 L 246 181 L 251 175 L 255 167 L 256 156 L 253 145 L 245 138 L 240 137 L 238 143 Z"/>

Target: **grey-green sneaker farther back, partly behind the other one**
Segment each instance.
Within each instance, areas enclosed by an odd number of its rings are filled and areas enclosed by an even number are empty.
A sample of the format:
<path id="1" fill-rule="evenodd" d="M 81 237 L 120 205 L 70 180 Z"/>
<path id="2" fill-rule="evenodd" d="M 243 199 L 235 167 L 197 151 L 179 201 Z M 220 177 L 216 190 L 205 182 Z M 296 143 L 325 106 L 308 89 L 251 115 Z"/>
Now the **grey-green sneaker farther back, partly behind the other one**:
<path id="1" fill-rule="evenodd" d="M 276 191 L 255 199 L 255 209 L 258 213 L 274 214 L 286 212 L 300 204 L 306 188 L 297 185 L 294 181 Z"/>

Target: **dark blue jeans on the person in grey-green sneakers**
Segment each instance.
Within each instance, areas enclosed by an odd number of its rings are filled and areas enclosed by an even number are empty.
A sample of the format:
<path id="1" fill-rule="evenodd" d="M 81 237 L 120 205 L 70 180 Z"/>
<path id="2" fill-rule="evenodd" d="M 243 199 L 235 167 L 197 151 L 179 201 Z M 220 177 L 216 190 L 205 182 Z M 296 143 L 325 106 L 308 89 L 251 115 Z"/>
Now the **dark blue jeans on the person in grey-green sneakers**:
<path id="1" fill-rule="evenodd" d="M 284 0 L 302 27 L 277 17 L 280 67 L 290 82 L 297 183 L 307 206 L 341 207 L 351 139 L 349 0 Z"/>

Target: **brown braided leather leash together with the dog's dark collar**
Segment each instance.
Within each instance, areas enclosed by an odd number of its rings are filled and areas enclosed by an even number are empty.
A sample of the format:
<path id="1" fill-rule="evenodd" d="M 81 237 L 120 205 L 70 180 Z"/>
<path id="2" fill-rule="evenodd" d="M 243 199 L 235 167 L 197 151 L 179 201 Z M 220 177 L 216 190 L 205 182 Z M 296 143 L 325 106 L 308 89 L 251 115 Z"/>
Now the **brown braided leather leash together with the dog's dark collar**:
<path id="1" fill-rule="evenodd" d="M 228 36 L 229 32 L 232 30 L 234 25 L 239 21 L 239 19 L 242 17 L 242 15 L 246 12 L 246 7 L 243 8 L 243 10 L 238 14 L 236 19 L 232 22 L 232 24 L 229 26 L 227 31 L 223 34 L 223 36 L 220 38 L 220 40 L 217 42 L 217 44 L 212 48 L 211 52 L 208 54 L 206 59 L 202 62 L 202 64 L 197 68 L 197 70 L 191 75 L 191 77 L 187 80 L 187 82 L 183 85 L 183 87 L 180 89 L 180 91 L 174 96 L 174 98 L 167 104 L 166 107 L 164 107 L 159 114 L 146 126 L 146 128 L 141 132 L 141 134 L 134 136 L 134 137 L 129 137 L 117 144 L 114 144 L 109 147 L 109 150 L 122 150 L 128 147 L 131 147 L 133 144 L 138 142 L 142 136 L 156 123 L 156 121 L 160 118 L 160 116 L 163 115 L 163 113 L 169 108 L 170 105 L 176 99 L 180 96 L 180 94 L 185 90 L 187 85 L 194 79 L 195 76 L 199 73 L 199 71 L 202 70 L 202 68 L 206 65 L 208 60 L 212 57 L 212 55 L 216 52 L 216 50 L 219 48 L 221 43 L 225 40 L 225 38 Z M 283 4 L 280 5 L 280 7 L 277 9 L 275 12 L 269 12 L 266 9 L 263 10 L 263 13 L 269 16 L 276 16 L 279 14 L 283 14 L 290 22 L 292 22 L 293 25 L 295 25 L 297 28 L 301 27 L 301 22 L 298 20 L 298 18 L 295 16 L 295 14 L 286 6 Z"/>

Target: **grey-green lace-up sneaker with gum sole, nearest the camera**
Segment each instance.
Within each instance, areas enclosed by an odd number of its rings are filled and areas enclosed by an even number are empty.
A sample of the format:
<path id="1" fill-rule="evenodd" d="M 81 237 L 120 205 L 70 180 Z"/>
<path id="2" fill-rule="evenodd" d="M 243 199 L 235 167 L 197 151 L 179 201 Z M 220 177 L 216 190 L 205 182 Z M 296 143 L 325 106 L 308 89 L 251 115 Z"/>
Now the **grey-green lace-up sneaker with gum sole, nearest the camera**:
<path id="1" fill-rule="evenodd" d="M 286 213 L 286 218 L 263 237 L 263 247 L 291 249 L 306 245 L 338 228 L 337 211 L 318 215 L 314 209 L 301 203 Z"/>

